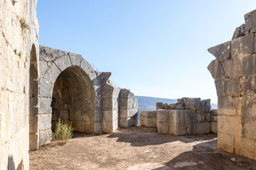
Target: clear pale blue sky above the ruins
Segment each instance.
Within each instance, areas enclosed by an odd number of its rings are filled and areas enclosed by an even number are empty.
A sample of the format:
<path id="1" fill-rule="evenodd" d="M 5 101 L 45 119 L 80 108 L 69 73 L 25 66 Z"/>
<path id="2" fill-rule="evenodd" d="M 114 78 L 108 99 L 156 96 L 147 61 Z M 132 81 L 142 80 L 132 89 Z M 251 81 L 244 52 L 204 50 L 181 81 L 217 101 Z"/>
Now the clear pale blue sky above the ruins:
<path id="1" fill-rule="evenodd" d="M 39 43 L 82 54 L 135 95 L 216 103 L 207 48 L 255 9 L 255 0 L 39 0 Z"/>

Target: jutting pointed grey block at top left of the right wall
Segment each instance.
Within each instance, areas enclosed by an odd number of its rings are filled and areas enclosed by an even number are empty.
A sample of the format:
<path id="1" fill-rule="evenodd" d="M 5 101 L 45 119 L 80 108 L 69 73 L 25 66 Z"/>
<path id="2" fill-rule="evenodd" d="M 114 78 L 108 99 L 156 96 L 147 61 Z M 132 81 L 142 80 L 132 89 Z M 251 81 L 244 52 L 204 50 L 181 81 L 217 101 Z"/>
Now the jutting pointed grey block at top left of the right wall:
<path id="1" fill-rule="evenodd" d="M 219 62 L 228 60 L 231 57 L 231 42 L 228 41 L 221 45 L 213 46 L 208 49 L 208 52 L 214 55 Z"/>

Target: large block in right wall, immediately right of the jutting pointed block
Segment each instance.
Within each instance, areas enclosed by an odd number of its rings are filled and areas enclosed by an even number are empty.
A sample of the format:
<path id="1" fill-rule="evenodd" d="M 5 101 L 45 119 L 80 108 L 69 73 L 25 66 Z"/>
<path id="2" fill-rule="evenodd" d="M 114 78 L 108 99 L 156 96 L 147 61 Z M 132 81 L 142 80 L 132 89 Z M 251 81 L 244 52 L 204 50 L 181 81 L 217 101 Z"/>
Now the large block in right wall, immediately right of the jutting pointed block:
<path id="1" fill-rule="evenodd" d="M 253 41 L 253 34 L 233 39 L 231 41 L 231 57 L 236 58 L 252 54 L 254 52 Z"/>

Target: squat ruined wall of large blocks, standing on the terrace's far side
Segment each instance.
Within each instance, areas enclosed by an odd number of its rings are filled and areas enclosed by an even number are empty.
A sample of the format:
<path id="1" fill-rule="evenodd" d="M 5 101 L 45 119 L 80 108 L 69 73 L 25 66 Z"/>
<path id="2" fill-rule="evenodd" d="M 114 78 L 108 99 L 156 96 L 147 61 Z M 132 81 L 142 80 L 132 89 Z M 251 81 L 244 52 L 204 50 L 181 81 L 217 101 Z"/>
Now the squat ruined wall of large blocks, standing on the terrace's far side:
<path id="1" fill-rule="evenodd" d="M 184 97 L 174 104 L 156 103 L 156 109 L 159 134 L 182 136 L 211 132 L 210 99 Z"/>

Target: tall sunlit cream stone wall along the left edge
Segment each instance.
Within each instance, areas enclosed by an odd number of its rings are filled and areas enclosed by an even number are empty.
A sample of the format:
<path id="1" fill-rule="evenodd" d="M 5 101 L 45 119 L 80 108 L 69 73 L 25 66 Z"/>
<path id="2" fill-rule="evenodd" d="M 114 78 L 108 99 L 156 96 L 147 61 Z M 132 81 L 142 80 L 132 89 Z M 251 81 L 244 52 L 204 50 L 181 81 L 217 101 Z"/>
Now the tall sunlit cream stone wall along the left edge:
<path id="1" fill-rule="evenodd" d="M 33 53 L 36 67 L 36 3 L 36 0 L 0 1 L 1 169 L 29 166 L 29 61 Z"/>

